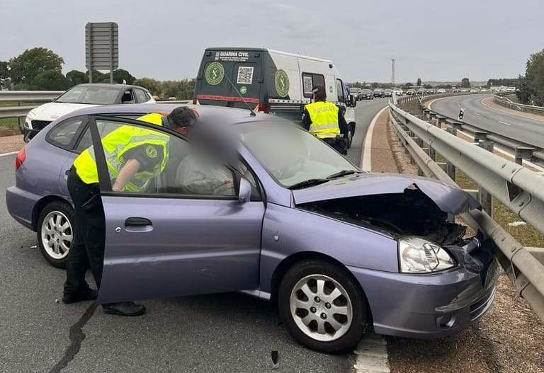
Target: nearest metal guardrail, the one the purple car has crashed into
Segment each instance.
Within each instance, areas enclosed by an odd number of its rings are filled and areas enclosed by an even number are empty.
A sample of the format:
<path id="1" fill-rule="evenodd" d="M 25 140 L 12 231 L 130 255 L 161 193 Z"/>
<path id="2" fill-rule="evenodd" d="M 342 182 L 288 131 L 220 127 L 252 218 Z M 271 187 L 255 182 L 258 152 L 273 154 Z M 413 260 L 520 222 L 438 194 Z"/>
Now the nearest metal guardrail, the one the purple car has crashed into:
<path id="1" fill-rule="evenodd" d="M 409 101 L 414 100 L 408 98 L 400 100 L 400 103 L 407 106 Z M 497 198 L 544 233 L 544 174 L 493 154 L 486 150 L 489 149 L 487 142 L 480 142 L 480 139 L 476 139 L 475 144 L 460 139 L 455 136 L 456 127 L 443 130 L 438 123 L 425 122 L 398 105 L 390 103 L 390 120 L 417 164 L 419 174 L 451 184 L 455 183 L 455 168 L 459 168 L 480 185 L 478 195 L 483 210 L 472 210 L 462 217 L 496 243 L 499 263 L 521 297 L 544 321 L 544 249 L 524 248 L 490 217 L 491 204 L 485 202 L 490 200 L 490 196 Z M 423 147 L 424 144 L 428 147 Z M 446 159 L 446 163 L 436 162 L 437 152 Z"/>

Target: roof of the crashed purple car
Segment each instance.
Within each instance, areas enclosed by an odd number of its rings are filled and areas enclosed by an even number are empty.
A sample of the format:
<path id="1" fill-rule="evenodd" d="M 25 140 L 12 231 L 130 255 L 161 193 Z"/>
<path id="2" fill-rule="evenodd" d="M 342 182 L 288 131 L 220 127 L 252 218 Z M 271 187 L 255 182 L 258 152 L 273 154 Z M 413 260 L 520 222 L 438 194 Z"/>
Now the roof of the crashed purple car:
<path id="1" fill-rule="evenodd" d="M 79 115 L 145 115 L 149 113 L 170 113 L 179 106 L 188 106 L 198 112 L 199 120 L 211 122 L 213 118 L 220 117 L 220 125 L 236 124 L 241 122 L 254 122 L 259 120 L 271 120 L 272 115 L 255 113 L 251 115 L 249 109 L 226 108 L 225 106 L 213 105 L 179 105 L 173 103 L 140 103 L 140 104 L 121 104 L 93 106 L 90 108 L 81 108 L 70 113 L 70 117 Z"/>

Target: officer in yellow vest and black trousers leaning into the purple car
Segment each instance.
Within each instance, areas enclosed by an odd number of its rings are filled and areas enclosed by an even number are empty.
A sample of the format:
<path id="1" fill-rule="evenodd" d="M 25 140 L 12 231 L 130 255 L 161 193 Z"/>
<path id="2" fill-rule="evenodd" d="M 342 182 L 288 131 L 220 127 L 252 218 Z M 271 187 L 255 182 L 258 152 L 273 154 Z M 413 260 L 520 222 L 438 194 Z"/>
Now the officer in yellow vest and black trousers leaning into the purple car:
<path id="1" fill-rule="evenodd" d="M 186 134 L 196 123 L 196 112 L 188 107 L 175 108 L 163 116 L 144 115 L 138 120 L 168 127 Z M 101 139 L 114 191 L 138 192 L 147 181 L 159 176 L 168 161 L 169 136 L 143 127 L 122 125 Z M 69 304 L 98 297 L 85 281 L 90 269 L 96 286 L 100 288 L 104 262 L 104 210 L 98 186 L 95 151 L 89 147 L 74 160 L 68 174 L 68 191 L 74 202 L 77 227 L 67 258 L 66 282 L 62 302 Z M 145 314 L 145 306 L 134 302 L 102 304 L 107 314 L 138 316 Z"/>

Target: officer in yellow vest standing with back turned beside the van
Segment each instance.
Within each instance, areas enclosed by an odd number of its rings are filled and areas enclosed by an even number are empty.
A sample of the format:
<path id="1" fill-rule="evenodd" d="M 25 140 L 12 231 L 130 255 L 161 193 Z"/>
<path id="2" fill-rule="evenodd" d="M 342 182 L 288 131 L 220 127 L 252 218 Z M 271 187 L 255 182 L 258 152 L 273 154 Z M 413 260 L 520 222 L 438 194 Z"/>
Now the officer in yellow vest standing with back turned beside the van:
<path id="1" fill-rule="evenodd" d="M 305 105 L 302 114 L 302 127 L 318 139 L 327 142 L 340 154 L 348 154 L 346 144 L 348 123 L 344 115 L 338 106 L 327 102 L 327 92 L 324 86 L 314 86 L 312 94 L 314 102 Z"/>

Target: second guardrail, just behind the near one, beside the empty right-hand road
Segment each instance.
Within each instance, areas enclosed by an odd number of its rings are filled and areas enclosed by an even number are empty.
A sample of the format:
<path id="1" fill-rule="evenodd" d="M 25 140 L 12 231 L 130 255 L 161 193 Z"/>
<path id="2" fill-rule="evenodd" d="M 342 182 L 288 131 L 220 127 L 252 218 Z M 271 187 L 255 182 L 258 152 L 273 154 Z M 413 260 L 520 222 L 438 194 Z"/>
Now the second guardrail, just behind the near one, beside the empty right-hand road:
<path id="1" fill-rule="evenodd" d="M 433 95 L 426 96 L 424 98 L 414 98 L 410 99 L 404 98 L 404 100 L 399 99 L 398 104 L 404 108 L 409 109 L 412 113 L 418 113 L 420 119 L 423 120 L 436 120 L 438 125 L 446 124 L 457 128 L 458 130 L 463 130 L 472 134 L 475 139 L 480 140 L 489 140 L 497 144 L 501 144 L 502 147 L 506 148 L 514 155 L 516 163 L 522 164 L 523 159 L 527 161 L 532 161 L 533 163 L 544 165 L 544 149 L 538 147 L 536 144 L 527 144 L 521 142 L 517 139 L 511 139 L 509 137 L 504 137 L 502 134 L 497 134 L 485 130 L 475 125 L 469 125 L 467 122 L 458 120 L 458 118 L 448 117 L 442 113 L 438 113 L 434 110 L 426 108 L 424 101 L 433 99 L 433 98 L 443 98 L 449 96 L 460 96 L 467 93 L 458 93 L 458 94 L 442 94 L 442 95 Z"/>

